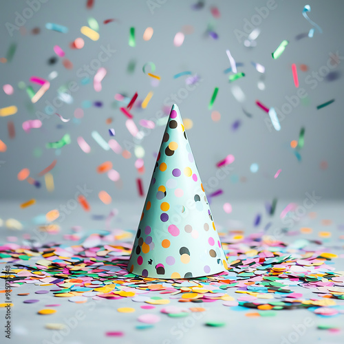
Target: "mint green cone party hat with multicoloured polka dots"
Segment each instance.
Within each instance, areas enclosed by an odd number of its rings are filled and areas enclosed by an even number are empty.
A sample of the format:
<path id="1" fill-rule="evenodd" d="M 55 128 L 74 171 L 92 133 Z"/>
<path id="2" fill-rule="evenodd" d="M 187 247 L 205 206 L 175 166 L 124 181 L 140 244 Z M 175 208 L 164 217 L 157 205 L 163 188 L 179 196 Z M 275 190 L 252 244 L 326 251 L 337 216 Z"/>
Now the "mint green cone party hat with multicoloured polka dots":
<path id="1" fill-rule="evenodd" d="M 177 105 L 166 125 L 128 270 L 143 277 L 213 275 L 227 262 Z"/>

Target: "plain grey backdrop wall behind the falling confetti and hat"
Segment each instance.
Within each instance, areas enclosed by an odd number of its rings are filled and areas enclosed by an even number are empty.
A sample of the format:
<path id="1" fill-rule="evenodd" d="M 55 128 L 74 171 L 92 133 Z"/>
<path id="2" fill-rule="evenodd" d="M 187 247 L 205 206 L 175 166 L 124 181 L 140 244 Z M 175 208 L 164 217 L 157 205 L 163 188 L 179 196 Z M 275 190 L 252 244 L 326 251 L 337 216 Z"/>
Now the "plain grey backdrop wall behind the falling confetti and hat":
<path id="1" fill-rule="evenodd" d="M 163 102 L 171 94 L 177 93 L 185 86 L 185 76 L 174 79 L 173 75 L 190 70 L 202 77 L 202 83 L 193 92 L 189 92 L 179 104 L 183 118 L 193 120 L 193 128 L 188 131 L 191 147 L 195 155 L 200 175 L 204 183 L 215 175 L 215 163 L 228 154 L 235 155 L 232 164 L 233 171 L 225 180 L 219 182 L 215 189 L 223 189 L 224 194 L 219 200 L 231 202 L 235 199 L 270 199 L 271 197 L 304 197 L 305 192 L 316 191 L 321 197 L 342 197 L 344 191 L 343 178 L 343 114 L 341 76 L 331 82 L 323 80 L 311 89 L 305 84 L 305 78 L 313 71 L 326 65 L 330 52 L 344 54 L 343 49 L 343 1 L 309 1 L 312 12 L 310 18 L 323 29 L 323 34 L 314 33 L 312 39 L 305 37 L 295 39 L 298 34 L 307 33 L 311 25 L 302 16 L 305 3 L 301 1 L 277 0 L 277 8 L 270 10 L 268 17 L 262 19 L 259 25 L 261 34 L 257 39 L 257 47 L 248 49 L 239 42 L 235 30 L 244 31 L 244 19 L 251 21 L 256 14 L 255 7 L 266 6 L 266 1 L 206 1 L 202 10 L 193 10 L 195 1 L 168 0 L 160 8 L 155 8 L 152 14 L 146 1 L 95 1 L 94 8 L 89 10 L 86 1 L 47 1 L 41 4 L 38 12 L 24 25 L 26 34 L 14 31 L 11 37 L 5 23 L 14 23 L 15 12 L 22 13 L 28 5 L 24 1 L 6 1 L 0 13 L 1 56 L 6 56 L 10 43 L 17 43 L 17 52 L 12 62 L 0 63 L 1 87 L 10 83 L 14 87 L 12 96 L 0 90 L 1 107 L 17 105 L 17 114 L 0 118 L 0 139 L 8 146 L 5 153 L 0 153 L 0 197 L 25 201 L 30 198 L 58 200 L 72 197 L 77 191 L 77 185 L 87 184 L 94 192 L 89 196 L 96 198 L 100 190 L 107 191 L 114 200 L 133 200 L 138 198 L 136 178 L 138 173 L 134 166 L 136 160 L 132 151 L 129 160 L 116 155 L 113 151 L 104 151 L 93 140 L 92 130 L 97 130 L 103 138 L 109 140 L 109 128 L 116 130 L 116 140 L 123 144 L 132 136 L 125 127 L 125 116 L 113 106 L 116 93 L 126 94 L 129 98 L 138 92 L 142 100 L 150 90 L 154 95 L 146 109 L 135 108 L 131 111 L 134 120 L 152 118 L 162 109 Z M 217 6 L 221 12 L 219 19 L 214 19 L 210 12 L 211 6 Z M 100 25 L 100 39 L 96 42 L 80 34 L 80 28 L 87 25 L 87 18 L 94 17 Z M 114 18 L 116 21 L 107 25 L 105 19 Z M 254 19 L 255 20 L 255 19 Z M 59 23 L 67 26 L 69 32 L 61 34 L 45 29 L 45 23 Z M 204 36 L 207 25 L 214 23 L 215 32 L 219 39 Z M 181 47 L 173 45 L 173 37 L 182 30 L 183 25 L 192 25 L 193 34 L 186 36 Z M 136 28 L 136 47 L 129 47 L 129 28 Z M 151 26 L 154 29 L 150 41 L 144 41 L 142 34 Z M 32 28 L 41 28 L 39 34 L 31 34 Z M 77 37 L 83 37 L 85 47 L 81 50 L 71 50 L 69 43 Z M 273 52 L 283 39 L 290 41 L 285 52 L 277 60 L 272 59 Z M 65 69 L 62 59 L 58 58 L 55 65 L 48 65 L 50 57 L 55 56 L 53 47 L 59 45 L 65 50 L 66 57 L 72 61 L 73 69 Z M 95 92 L 92 82 L 80 85 L 81 78 L 76 70 L 89 64 L 100 52 L 100 46 L 110 45 L 116 53 L 103 63 L 107 76 L 103 80 L 102 92 Z M 230 49 L 237 62 L 244 63 L 239 71 L 246 73 L 244 78 L 228 83 L 229 61 L 226 49 Z M 136 60 L 133 74 L 127 73 L 127 65 L 132 59 Z M 156 65 L 155 74 L 161 76 L 158 87 L 151 86 L 151 78 L 142 72 L 142 65 L 153 61 Z M 250 62 L 261 63 L 266 67 L 264 83 L 266 89 L 258 89 L 257 82 L 261 77 Z M 286 103 L 286 96 L 296 94 L 292 80 L 291 65 L 301 63 L 308 65 L 308 72 L 299 72 L 300 87 L 308 93 L 308 105 L 300 103 L 281 121 L 281 131 L 268 130 L 264 119 L 268 114 L 261 111 L 255 100 L 259 99 L 268 107 L 277 107 Z M 343 65 L 339 64 L 336 72 L 341 73 Z M 25 90 L 17 87 L 19 81 L 27 85 L 30 76 L 47 78 L 50 72 L 56 70 L 58 77 L 51 81 L 48 92 L 32 105 Z M 43 121 L 41 129 L 32 129 L 25 133 L 21 128 L 22 122 L 36 118 L 36 111 L 44 111 L 45 100 L 52 101 L 56 90 L 61 85 L 75 80 L 80 89 L 72 94 L 74 102 L 64 104 L 58 109 L 58 114 L 72 118 L 63 123 L 56 116 Z M 230 92 L 233 85 L 238 85 L 244 91 L 246 100 L 240 104 Z M 37 90 L 37 85 L 33 85 Z M 214 87 L 219 87 L 219 93 L 213 110 L 222 115 L 219 122 L 211 120 L 208 103 Z M 316 110 L 316 105 L 335 98 L 329 107 Z M 74 122 L 74 109 L 81 107 L 84 100 L 92 102 L 100 100 L 103 107 L 85 109 L 85 116 Z M 242 111 L 252 114 L 248 118 Z M 106 118 L 114 118 L 111 125 L 105 123 Z M 7 122 L 13 120 L 16 137 L 8 138 Z M 241 120 L 237 131 L 231 129 L 235 120 Z M 139 127 L 139 125 L 138 125 Z M 298 140 L 301 127 L 305 127 L 305 146 L 301 150 L 302 161 L 298 162 L 290 141 Z M 140 128 L 140 127 L 139 127 Z M 146 173 L 142 176 L 144 190 L 151 178 L 155 162 L 154 153 L 158 151 L 164 127 L 156 127 L 149 136 L 142 140 L 145 156 Z M 61 149 L 61 155 L 56 155 L 54 149 L 45 149 L 46 142 L 60 140 L 69 133 L 72 144 Z M 78 147 L 76 138 L 83 136 L 92 147 L 92 152 L 84 153 Z M 34 149 L 40 148 L 43 153 L 40 158 L 34 157 Z M 55 191 L 49 193 L 45 189 L 44 178 L 40 189 L 27 182 L 19 182 L 17 173 L 28 167 L 31 176 L 35 178 L 54 159 L 58 162 L 52 171 Z M 106 175 L 96 173 L 96 166 L 111 160 L 122 179 L 122 187 L 111 182 Z M 328 169 L 320 169 L 321 161 L 328 162 Z M 259 171 L 250 172 L 250 164 L 259 164 Z M 282 169 L 276 180 L 276 171 Z M 246 182 L 234 182 L 235 178 L 246 178 Z"/>

